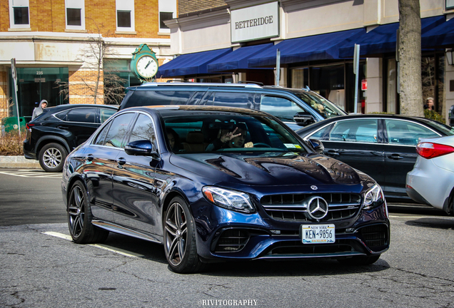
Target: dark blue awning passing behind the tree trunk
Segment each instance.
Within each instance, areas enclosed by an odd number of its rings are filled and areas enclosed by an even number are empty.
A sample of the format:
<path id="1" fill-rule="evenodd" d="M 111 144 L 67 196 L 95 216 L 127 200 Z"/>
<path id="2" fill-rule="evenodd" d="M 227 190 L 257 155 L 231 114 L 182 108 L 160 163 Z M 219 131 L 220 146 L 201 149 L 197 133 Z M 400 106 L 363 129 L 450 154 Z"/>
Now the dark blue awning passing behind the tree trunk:
<path id="1" fill-rule="evenodd" d="M 444 16 L 421 19 L 421 33 L 425 33 L 443 23 Z M 360 45 L 360 56 L 373 56 L 381 53 L 395 52 L 395 41 L 399 23 L 385 24 L 370 30 L 368 33 L 345 43 L 339 48 L 340 58 L 353 58 L 355 43 Z"/>

